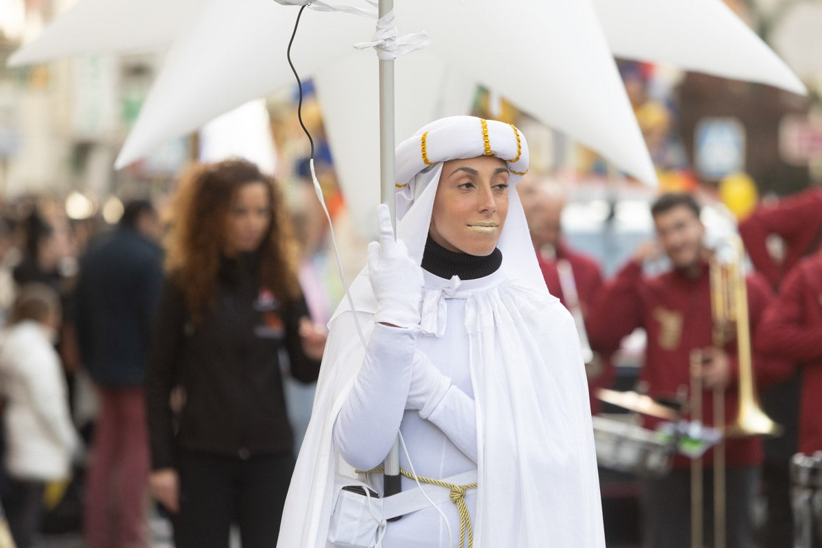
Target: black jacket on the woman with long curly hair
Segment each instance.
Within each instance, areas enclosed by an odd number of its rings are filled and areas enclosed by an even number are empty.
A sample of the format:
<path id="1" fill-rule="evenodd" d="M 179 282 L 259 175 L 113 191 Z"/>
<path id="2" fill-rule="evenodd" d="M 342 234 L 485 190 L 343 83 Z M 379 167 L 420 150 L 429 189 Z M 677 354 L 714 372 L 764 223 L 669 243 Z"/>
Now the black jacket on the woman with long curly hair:
<path id="1" fill-rule="evenodd" d="M 166 280 L 145 385 L 155 470 L 173 467 L 176 449 L 239 458 L 293 450 L 279 354 L 303 382 L 316 380 L 320 362 L 302 352 L 304 299 L 275 296 L 255 272 L 252 257 L 224 260 L 217 297 L 196 323 L 180 288 Z M 169 394 L 177 385 L 186 403 L 175 432 Z"/>

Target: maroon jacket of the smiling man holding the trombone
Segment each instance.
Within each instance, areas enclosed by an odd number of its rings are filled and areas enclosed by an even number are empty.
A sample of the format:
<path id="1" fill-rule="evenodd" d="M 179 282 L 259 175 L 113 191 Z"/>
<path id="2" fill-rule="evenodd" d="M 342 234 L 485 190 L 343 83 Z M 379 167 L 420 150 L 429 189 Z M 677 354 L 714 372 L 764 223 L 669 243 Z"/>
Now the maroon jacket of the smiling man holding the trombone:
<path id="1" fill-rule="evenodd" d="M 672 397 L 681 386 L 690 386 L 690 351 L 713 344 L 709 268 L 701 267 L 700 275 L 690 279 L 677 271 L 655 277 L 644 277 L 642 266 L 630 261 L 615 279 L 607 283 L 597 306 L 589 316 L 589 337 L 594 348 L 616 348 L 622 337 L 637 327 L 648 334 L 645 361 L 640 380 L 648 385 L 649 396 Z M 765 306 L 771 299 L 768 284 L 759 276 L 747 279 L 748 308 L 751 333 L 754 332 Z M 725 417 L 736 417 L 737 343 L 724 348 L 731 357 L 732 382 L 725 398 Z M 753 355 L 753 368 L 758 386 L 783 380 L 791 366 L 780 358 Z M 702 397 L 702 417 L 713 424 L 713 397 L 705 391 Z M 658 419 L 643 417 L 645 428 L 654 429 Z M 762 460 L 759 438 L 728 440 L 727 464 L 741 466 Z M 712 463 L 711 458 L 705 461 Z M 675 467 L 687 467 L 686 458 L 677 457 Z"/>

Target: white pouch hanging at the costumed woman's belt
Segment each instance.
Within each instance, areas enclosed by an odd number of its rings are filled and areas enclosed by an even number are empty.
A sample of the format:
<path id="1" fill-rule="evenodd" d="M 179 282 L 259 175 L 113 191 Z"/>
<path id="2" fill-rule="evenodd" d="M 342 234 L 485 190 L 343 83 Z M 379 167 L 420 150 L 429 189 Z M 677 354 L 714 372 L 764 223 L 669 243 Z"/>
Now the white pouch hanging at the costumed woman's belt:
<path id="1" fill-rule="evenodd" d="M 334 508 L 328 541 L 337 548 L 374 548 L 382 540 L 386 521 L 375 490 L 353 477 L 336 476 Z"/>

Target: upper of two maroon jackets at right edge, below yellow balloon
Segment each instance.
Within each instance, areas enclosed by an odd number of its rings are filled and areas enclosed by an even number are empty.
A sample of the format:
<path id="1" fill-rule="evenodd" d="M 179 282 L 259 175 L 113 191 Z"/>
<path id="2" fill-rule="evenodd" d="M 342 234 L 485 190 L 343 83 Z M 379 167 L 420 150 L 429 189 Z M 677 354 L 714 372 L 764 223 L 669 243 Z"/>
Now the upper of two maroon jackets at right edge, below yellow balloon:
<path id="1" fill-rule="evenodd" d="M 772 207 L 761 206 L 739 223 L 751 262 L 771 287 L 777 288 L 793 265 L 819 249 L 822 242 L 822 188 L 811 188 L 779 200 Z M 785 259 L 774 262 L 765 247 L 769 234 L 785 242 Z"/>

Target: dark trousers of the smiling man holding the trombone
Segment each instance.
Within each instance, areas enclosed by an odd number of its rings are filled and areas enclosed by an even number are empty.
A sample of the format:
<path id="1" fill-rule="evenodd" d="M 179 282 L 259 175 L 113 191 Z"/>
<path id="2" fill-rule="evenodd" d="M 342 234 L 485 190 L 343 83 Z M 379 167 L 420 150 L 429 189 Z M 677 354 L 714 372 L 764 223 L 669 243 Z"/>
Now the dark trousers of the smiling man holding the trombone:
<path id="1" fill-rule="evenodd" d="M 726 485 L 727 548 L 755 546 L 754 504 L 759 467 L 728 467 Z M 703 474 L 704 545 L 713 546 L 713 471 Z M 690 548 L 690 470 L 673 470 L 642 480 L 643 548 Z M 786 546 L 790 546 L 789 544 Z"/>

